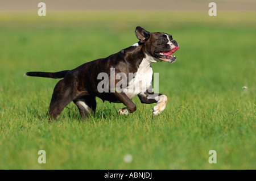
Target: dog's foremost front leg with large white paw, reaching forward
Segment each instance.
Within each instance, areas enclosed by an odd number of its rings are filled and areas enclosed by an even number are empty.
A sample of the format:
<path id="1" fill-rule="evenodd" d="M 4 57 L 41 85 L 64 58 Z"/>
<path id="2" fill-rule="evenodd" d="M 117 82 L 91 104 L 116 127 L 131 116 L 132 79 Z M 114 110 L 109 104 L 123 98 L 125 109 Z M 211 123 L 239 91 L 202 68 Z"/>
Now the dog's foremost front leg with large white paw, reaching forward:
<path id="1" fill-rule="evenodd" d="M 141 100 L 141 103 L 144 104 L 152 104 L 152 103 L 158 103 L 153 108 L 153 115 L 157 116 L 160 115 L 160 113 L 163 112 L 163 110 L 166 108 L 167 103 L 167 96 L 164 94 L 158 94 L 154 92 L 143 92 L 138 95 L 139 99 Z"/>

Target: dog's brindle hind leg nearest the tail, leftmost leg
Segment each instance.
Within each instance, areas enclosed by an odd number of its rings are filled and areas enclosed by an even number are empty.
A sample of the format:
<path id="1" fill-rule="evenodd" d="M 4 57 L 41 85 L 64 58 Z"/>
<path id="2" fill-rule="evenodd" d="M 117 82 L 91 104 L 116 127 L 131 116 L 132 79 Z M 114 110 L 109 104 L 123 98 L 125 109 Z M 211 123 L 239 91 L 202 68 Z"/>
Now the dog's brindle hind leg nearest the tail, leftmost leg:
<path id="1" fill-rule="evenodd" d="M 49 106 L 49 118 L 56 119 L 64 108 L 73 100 L 73 96 L 72 89 L 65 86 L 64 80 L 60 80 L 53 90 Z"/>

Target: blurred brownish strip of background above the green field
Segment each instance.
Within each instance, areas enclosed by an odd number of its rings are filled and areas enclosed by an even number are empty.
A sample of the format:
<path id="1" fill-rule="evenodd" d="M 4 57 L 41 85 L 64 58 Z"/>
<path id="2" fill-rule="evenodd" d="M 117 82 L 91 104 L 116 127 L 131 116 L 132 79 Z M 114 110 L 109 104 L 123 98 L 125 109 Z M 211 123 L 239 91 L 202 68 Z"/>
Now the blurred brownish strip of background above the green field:
<path id="1" fill-rule="evenodd" d="M 36 10 L 39 2 L 46 3 L 47 10 L 206 10 L 210 2 L 217 3 L 218 10 L 247 11 L 256 9 L 256 2 L 254 0 L 1 0 L 0 10 Z"/>

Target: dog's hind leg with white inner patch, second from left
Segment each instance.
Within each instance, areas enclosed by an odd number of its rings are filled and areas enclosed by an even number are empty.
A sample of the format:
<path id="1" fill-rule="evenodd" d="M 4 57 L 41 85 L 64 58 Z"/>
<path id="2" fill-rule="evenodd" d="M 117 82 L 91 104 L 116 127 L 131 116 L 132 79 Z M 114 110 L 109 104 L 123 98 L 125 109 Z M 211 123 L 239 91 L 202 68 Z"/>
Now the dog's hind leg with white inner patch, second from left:
<path id="1" fill-rule="evenodd" d="M 79 108 L 82 119 L 86 119 L 89 115 L 94 115 L 96 110 L 96 97 L 92 95 L 85 95 L 79 99 L 73 100 Z"/>

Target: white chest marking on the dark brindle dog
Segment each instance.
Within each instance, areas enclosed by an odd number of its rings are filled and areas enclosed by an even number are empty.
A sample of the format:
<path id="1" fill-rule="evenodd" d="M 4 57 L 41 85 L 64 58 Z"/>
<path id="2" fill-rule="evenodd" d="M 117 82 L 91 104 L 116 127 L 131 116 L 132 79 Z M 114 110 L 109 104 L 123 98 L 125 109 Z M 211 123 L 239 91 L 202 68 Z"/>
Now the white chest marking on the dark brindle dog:
<path id="1" fill-rule="evenodd" d="M 139 65 L 138 71 L 134 73 L 135 77 L 131 81 L 129 80 L 129 85 L 123 90 L 129 99 L 133 99 L 136 95 L 146 92 L 148 87 L 151 86 L 153 75 L 151 62 L 155 62 L 155 60 L 146 55 Z"/>

